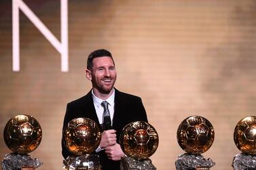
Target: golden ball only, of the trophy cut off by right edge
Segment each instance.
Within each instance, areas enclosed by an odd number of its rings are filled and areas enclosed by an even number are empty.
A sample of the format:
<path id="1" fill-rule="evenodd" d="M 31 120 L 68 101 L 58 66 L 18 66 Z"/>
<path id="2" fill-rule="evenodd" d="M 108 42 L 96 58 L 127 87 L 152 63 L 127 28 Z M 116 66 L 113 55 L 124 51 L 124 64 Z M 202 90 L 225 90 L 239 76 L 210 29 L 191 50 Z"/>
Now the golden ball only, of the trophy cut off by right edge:
<path id="1" fill-rule="evenodd" d="M 256 116 L 246 116 L 236 124 L 234 142 L 242 152 L 256 155 Z"/>

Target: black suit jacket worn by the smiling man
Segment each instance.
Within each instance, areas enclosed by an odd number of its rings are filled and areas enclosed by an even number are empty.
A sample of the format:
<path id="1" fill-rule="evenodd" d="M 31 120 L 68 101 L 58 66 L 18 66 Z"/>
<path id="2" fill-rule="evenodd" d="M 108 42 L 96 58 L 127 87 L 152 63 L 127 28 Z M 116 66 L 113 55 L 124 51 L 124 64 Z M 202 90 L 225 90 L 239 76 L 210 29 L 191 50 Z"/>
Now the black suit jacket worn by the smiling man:
<path id="1" fill-rule="evenodd" d="M 98 117 L 96 115 L 96 110 L 94 108 L 92 100 L 92 91 L 89 91 L 87 95 L 82 98 L 79 98 L 73 102 L 67 104 L 67 110 L 65 114 L 65 119 L 62 127 L 62 132 L 65 126 L 69 121 L 79 118 L 86 117 L 95 121 L 100 127 Z M 143 106 L 141 98 L 130 95 L 128 93 L 123 93 L 115 89 L 115 108 L 113 115 L 113 129 L 116 130 L 117 143 L 119 143 L 120 133 L 122 129 L 128 124 L 134 121 L 146 121 L 147 114 Z M 101 128 L 101 127 L 100 127 Z M 103 129 L 100 129 L 103 131 Z M 67 150 L 63 140 L 62 133 L 62 156 L 67 158 L 72 153 Z M 100 156 L 100 165 L 102 170 L 119 170 L 120 161 L 110 161 L 105 154 L 105 151 L 102 150 L 96 153 Z"/>

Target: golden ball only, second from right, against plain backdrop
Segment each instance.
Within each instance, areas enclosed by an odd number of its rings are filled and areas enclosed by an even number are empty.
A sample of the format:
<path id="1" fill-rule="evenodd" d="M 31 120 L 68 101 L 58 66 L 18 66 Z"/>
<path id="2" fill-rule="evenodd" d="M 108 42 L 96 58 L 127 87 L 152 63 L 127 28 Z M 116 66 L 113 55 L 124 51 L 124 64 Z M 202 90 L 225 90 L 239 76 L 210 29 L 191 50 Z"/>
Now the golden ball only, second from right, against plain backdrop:
<path id="1" fill-rule="evenodd" d="M 179 146 L 189 154 L 202 154 L 211 148 L 215 132 L 213 125 L 202 116 L 189 116 L 177 130 Z"/>

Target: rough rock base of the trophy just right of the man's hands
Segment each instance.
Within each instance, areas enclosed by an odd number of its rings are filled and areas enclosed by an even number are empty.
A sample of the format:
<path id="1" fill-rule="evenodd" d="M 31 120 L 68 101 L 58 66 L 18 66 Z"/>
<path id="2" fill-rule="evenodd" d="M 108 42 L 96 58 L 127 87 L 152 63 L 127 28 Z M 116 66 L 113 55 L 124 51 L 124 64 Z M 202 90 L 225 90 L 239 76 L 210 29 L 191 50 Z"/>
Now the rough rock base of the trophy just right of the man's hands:
<path id="1" fill-rule="evenodd" d="M 123 156 L 121 158 L 120 170 L 156 170 L 156 167 L 153 166 L 152 161 L 147 158 L 142 161 L 138 161 L 134 158 L 128 156 Z"/>

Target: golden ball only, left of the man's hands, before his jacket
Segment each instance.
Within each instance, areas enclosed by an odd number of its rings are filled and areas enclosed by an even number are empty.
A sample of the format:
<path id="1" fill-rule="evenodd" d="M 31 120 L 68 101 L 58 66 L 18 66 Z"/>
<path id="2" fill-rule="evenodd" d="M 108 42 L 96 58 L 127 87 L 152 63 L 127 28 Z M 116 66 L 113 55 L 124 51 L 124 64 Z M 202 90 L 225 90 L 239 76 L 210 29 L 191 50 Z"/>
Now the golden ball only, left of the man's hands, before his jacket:
<path id="1" fill-rule="evenodd" d="M 65 146 L 77 156 L 90 154 L 100 144 L 100 128 L 88 118 L 69 121 L 64 130 Z"/>

